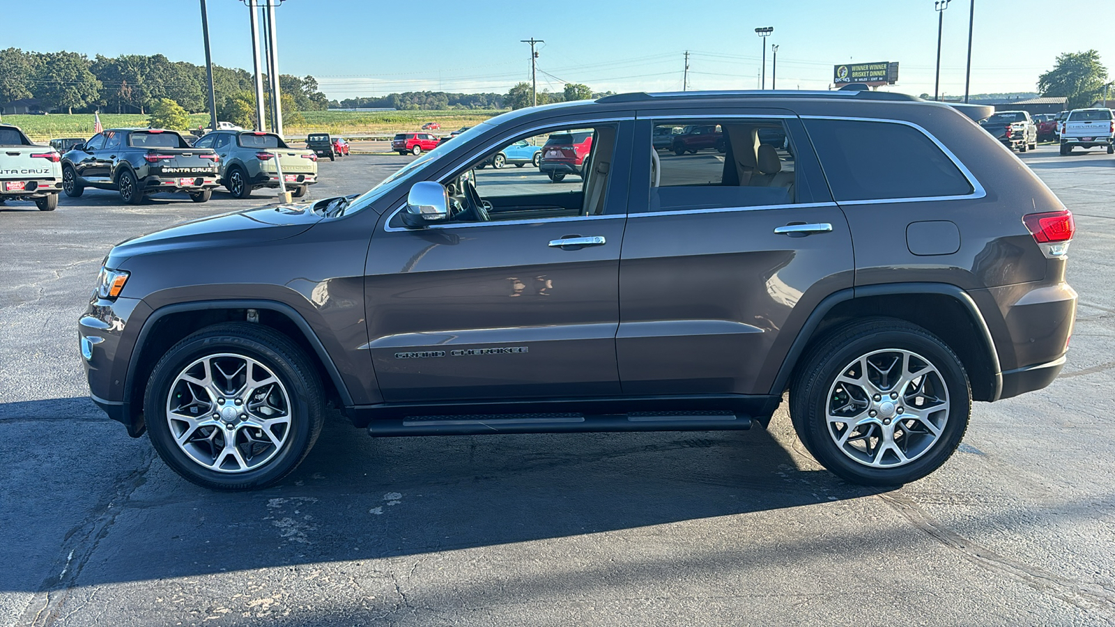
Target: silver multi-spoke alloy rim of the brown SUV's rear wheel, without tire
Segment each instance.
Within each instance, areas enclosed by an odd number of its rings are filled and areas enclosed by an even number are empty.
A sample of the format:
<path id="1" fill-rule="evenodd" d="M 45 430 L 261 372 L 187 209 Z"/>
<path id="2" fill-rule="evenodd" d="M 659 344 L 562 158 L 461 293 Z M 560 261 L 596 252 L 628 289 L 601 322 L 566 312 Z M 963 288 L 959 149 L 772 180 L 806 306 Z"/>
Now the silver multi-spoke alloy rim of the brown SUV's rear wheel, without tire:
<path id="1" fill-rule="evenodd" d="M 850 363 L 828 389 L 828 435 L 844 455 L 895 467 L 924 455 L 949 421 L 949 390 L 927 358 L 883 349 Z"/>

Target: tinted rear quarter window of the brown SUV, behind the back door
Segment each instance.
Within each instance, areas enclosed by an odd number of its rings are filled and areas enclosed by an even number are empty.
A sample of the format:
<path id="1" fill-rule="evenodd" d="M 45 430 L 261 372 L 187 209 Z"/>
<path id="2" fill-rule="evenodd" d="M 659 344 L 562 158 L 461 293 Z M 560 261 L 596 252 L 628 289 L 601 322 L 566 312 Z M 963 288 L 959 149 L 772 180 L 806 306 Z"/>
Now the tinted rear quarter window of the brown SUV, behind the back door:
<path id="1" fill-rule="evenodd" d="M 836 201 L 961 196 L 960 168 L 921 131 L 893 122 L 806 119 Z"/>

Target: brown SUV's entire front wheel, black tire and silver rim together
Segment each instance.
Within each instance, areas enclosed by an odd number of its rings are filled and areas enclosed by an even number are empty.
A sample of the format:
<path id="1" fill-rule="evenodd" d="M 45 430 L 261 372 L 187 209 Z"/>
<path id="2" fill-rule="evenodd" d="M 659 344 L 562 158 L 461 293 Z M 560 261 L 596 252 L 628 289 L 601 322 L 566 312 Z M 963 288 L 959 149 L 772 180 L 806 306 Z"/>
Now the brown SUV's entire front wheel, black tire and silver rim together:
<path id="1" fill-rule="evenodd" d="M 265 488 L 306 457 L 321 432 L 321 382 L 302 351 L 254 324 L 202 329 L 155 365 L 147 433 L 184 479 L 215 490 Z"/>

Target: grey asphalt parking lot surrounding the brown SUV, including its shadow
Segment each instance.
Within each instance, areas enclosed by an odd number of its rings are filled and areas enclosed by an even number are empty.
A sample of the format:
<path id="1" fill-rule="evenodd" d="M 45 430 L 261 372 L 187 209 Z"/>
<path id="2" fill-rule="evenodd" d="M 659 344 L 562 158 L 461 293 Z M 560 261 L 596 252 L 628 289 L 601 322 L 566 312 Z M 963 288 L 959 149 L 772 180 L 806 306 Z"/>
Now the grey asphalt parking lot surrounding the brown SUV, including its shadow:
<path id="1" fill-rule="evenodd" d="M 411 158 L 320 162 L 310 196 Z M 86 398 L 75 327 L 112 244 L 252 201 L 9 202 L 0 625 L 1112 624 L 1115 157 L 1020 158 L 1076 215 L 1068 365 L 976 404 L 957 454 L 889 491 L 821 469 L 782 409 L 768 431 L 386 440 L 332 415 L 279 486 L 210 492 Z"/>

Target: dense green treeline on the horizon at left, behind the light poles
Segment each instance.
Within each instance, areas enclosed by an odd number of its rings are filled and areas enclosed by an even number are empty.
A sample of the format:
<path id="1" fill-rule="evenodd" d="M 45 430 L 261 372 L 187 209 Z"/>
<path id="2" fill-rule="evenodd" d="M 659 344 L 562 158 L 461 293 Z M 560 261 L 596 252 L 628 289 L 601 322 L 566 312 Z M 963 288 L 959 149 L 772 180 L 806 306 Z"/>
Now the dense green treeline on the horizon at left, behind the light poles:
<path id="1" fill-rule="evenodd" d="M 203 66 L 171 61 L 163 55 L 89 59 L 77 52 L 0 50 L 0 105 L 36 98 L 47 112 L 148 113 L 169 98 L 200 113 L 209 107 L 206 83 Z M 213 84 L 219 112 L 235 99 L 254 103 L 254 84 L 246 70 L 213 66 Z M 295 110 L 319 110 L 329 104 L 312 76 L 280 75 L 279 84 L 284 109 L 288 94 Z"/>

